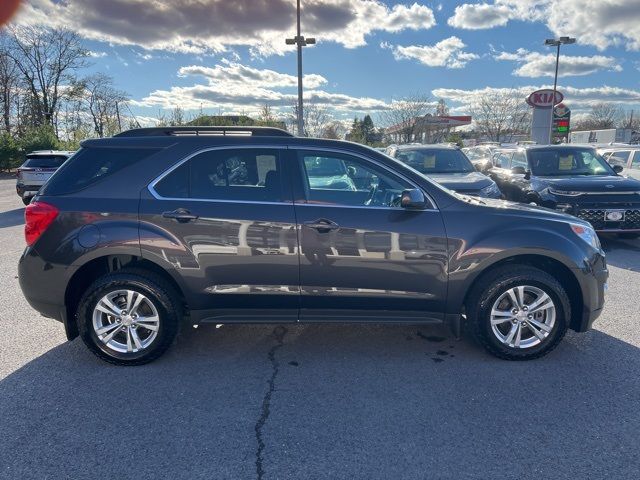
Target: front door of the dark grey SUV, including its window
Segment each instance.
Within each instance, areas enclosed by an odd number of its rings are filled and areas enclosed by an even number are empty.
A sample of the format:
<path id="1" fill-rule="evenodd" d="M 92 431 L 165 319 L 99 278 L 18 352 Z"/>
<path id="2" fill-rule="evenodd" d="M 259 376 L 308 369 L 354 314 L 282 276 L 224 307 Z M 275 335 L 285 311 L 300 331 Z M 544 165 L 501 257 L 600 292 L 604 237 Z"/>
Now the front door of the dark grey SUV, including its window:
<path id="1" fill-rule="evenodd" d="M 415 186 L 370 159 L 329 150 L 291 156 L 301 320 L 442 320 L 447 239 L 435 206 L 401 208 L 402 191 Z"/>

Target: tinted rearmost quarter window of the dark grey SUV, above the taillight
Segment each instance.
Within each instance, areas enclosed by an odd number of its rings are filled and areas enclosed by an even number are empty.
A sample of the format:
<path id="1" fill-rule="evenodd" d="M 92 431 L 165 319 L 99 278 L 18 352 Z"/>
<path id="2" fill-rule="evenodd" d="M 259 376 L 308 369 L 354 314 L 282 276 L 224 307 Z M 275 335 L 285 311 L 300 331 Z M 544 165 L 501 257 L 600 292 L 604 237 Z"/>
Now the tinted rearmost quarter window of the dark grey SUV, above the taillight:
<path id="1" fill-rule="evenodd" d="M 41 192 L 43 195 L 77 192 L 159 151 L 158 148 L 82 148 L 53 174 Z"/>

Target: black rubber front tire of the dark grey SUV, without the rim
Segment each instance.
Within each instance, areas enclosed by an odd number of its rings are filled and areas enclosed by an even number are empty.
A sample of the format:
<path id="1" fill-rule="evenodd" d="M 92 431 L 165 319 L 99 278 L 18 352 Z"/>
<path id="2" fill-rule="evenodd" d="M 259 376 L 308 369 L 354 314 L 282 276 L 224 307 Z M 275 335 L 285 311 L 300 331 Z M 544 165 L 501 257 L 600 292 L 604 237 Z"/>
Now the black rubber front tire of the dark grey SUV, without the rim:
<path id="1" fill-rule="evenodd" d="M 491 309 L 507 290 L 530 285 L 544 291 L 556 307 L 555 323 L 549 335 L 538 345 L 515 348 L 502 343 L 491 327 Z M 533 360 L 558 346 L 571 319 L 571 302 L 560 282 L 548 273 L 528 265 L 506 265 L 481 277 L 473 287 L 466 305 L 467 321 L 473 336 L 492 355 L 505 360 Z"/>

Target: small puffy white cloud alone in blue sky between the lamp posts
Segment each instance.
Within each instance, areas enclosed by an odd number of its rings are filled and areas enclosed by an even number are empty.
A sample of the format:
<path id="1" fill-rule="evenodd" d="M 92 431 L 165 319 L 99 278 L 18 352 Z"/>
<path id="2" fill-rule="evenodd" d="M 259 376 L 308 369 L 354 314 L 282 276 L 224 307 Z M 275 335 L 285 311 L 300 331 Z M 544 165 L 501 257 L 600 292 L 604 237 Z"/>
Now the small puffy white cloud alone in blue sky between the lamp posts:
<path id="1" fill-rule="evenodd" d="M 469 61 L 478 57 L 475 53 L 465 52 L 466 45 L 458 37 L 449 37 L 435 45 L 392 46 L 382 44 L 383 48 L 391 48 L 396 59 L 414 59 L 428 67 L 462 68 Z"/>

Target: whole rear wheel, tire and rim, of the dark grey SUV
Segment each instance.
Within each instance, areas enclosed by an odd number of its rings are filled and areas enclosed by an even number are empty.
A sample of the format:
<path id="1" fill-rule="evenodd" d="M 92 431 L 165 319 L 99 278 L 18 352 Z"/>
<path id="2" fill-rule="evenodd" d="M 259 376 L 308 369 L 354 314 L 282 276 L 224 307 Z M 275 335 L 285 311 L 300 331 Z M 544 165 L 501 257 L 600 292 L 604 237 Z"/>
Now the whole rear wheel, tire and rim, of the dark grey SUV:
<path id="1" fill-rule="evenodd" d="M 89 349 L 117 365 L 158 358 L 175 339 L 181 318 L 181 302 L 171 285 L 137 269 L 96 280 L 80 300 L 77 316 Z"/>

